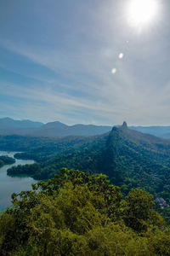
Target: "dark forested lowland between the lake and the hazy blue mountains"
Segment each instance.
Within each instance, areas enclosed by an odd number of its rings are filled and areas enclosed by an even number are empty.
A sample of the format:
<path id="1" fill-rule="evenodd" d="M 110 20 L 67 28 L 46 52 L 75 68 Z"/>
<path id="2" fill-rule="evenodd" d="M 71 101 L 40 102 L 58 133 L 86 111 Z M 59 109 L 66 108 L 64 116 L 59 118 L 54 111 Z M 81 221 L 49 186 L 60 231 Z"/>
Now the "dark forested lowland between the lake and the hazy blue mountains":
<path id="1" fill-rule="evenodd" d="M 0 150 L 25 152 L 20 154 L 21 159 L 31 159 L 42 162 L 54 157 L 55 154 L 73 150 L 93 142 L 96 137 L 24 137 L 24 136 L 1 136 Z"/>

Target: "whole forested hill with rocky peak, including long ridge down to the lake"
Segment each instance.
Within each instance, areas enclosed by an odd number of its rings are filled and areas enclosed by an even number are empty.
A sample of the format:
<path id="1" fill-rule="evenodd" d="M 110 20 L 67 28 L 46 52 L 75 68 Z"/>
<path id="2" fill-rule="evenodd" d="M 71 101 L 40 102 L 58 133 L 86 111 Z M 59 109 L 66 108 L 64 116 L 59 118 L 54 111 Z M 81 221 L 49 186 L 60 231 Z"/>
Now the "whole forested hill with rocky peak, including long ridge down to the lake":
<path id="1" fill-rule="evenodd" d="M 8 174 L 27 172 L 37 179 L 54 177 L 62 167 L 83 172 L 105 173 L 116 185 L 142 188 L 152 194 L 170 195 L 170 143 L 158 137 L 132 131 L 126 123 L 109 134 L 56 154 L 30 171 L 14 167 Z"/>

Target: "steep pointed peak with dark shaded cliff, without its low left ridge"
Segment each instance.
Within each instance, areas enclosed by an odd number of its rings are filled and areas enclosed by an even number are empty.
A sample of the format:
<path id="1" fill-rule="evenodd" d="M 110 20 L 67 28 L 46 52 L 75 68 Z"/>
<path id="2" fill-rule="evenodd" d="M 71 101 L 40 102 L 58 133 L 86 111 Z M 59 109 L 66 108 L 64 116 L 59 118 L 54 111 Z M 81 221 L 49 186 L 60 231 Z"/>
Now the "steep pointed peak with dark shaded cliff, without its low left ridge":
<path id="1" fill-rule="evenodd" d="M 170 143 L 160 138 L 114 127 L 100 161 L 113 183 L 158 193 L 170 185 Z M 169 191 L 170 192 L 170 191 Z"/>

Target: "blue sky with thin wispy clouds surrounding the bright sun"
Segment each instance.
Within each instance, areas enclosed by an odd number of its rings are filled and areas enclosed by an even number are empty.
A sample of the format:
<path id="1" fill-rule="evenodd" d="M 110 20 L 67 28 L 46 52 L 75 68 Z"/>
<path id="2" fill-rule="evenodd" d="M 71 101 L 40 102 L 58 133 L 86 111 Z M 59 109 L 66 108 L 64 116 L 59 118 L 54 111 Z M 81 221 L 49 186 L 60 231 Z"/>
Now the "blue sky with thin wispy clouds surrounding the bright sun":
<path id="1" fill-rule="evenodd" d="M 170 125 L 170 3 L 0 0 L 0 118 Z"/>

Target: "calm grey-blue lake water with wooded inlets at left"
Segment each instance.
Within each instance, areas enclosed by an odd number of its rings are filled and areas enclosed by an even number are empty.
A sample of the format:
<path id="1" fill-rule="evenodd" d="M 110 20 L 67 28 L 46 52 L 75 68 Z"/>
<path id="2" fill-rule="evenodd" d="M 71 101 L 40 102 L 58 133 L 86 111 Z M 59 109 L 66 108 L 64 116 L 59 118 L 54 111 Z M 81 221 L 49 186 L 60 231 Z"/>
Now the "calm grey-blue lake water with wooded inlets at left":
<path id="1" fill-rule="evenodd" d="M 15 153 L 18 152 L 0 151 L 0 155 L 8 155 L 9 157 L 14 157 Z M 29 190 L 31 189 L 31 183 L 36 182 L 32 177 L 10 177 L 7 175 L 7 170 L 11 166 L 23 166 L 34 163 L 34 160 L 15 160 L 14 164 L 0 168 L 0 211 L 10 206 L 11 195 L 14 192 L 20 193 L 20 191 Z"/>

